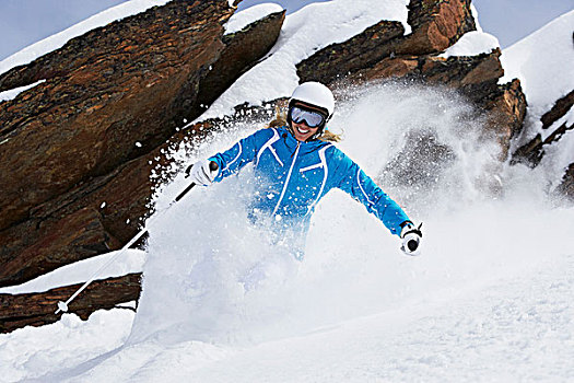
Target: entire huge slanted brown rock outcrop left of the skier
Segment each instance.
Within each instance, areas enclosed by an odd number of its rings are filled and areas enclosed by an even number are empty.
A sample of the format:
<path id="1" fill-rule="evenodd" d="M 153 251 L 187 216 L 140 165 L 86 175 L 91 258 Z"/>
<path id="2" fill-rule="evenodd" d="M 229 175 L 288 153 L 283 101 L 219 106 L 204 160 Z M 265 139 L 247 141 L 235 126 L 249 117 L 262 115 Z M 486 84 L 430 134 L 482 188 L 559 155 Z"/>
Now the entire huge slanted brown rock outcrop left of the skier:
<path id="1" fill-rule="evenodd" d="M 232 13 L 227 1 L 172 1 L 1 78 L 49 77 L 0 104 L 0 286 L 118 248 L 137 232 L 160 147 L 272 47 L 284 18 L 223 36 Z"/>

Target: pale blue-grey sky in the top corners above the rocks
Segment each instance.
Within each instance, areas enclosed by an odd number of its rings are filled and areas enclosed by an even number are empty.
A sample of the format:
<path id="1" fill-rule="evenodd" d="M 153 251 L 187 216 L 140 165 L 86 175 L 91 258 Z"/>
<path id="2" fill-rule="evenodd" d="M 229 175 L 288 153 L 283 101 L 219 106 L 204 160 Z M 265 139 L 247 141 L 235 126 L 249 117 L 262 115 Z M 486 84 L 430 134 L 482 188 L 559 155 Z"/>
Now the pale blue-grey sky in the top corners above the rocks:
<path id="1" fill-rule="evenodd" d="M 127 0 L 0 0 L 0 60 L 25 46 Z M 380 0 L 383 1 L 383 0 Z M 244 0 L 239 9 L 270 2 Z M 308 0 L 274 0 L 294 12 Z M 507 47 L 574 9 L 574 0 L 473 0 L 480 23 Z M 352 0 L 349 0 L 352 4 Z"/>

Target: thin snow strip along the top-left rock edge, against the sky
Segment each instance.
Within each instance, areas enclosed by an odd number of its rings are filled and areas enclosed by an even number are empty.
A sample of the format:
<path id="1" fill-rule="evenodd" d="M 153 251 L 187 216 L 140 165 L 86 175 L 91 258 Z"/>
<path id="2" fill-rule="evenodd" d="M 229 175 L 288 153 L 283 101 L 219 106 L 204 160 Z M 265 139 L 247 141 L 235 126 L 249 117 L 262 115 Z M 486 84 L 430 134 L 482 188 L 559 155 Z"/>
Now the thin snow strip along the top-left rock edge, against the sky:
<path id="1" fill-rule="evenodd" d="M 145 10 L 164 5 L 172 0 L 131 0 L 119 5 L 102 11 L 78 24 L 70 26 L 62 32 L 46 37 L 24 49 L 7 57 L 0 61 L 0 74 L 8 70 L 34 61 L 36 58 L 46 55 L 52 50 L 61 48 L 68 40 L 73 37 L 83 35 L 96 27 L 107 25 L 116 20 L 120 20 L 132 14 L 144 12 Z"/>

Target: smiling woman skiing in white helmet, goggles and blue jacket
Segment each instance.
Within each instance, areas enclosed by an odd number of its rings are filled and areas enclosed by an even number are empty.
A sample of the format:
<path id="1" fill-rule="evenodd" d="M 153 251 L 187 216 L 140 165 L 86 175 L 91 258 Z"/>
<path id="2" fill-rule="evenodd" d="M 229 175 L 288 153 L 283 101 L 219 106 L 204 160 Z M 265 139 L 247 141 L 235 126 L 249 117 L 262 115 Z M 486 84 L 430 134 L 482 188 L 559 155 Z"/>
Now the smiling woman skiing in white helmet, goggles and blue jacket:
<path id="1" fill-rule="evenodd" d="M 254 164 L 258 193 L 253 196 L 251 218 L 266 220 L 272 231 L 289 237 L 295 257 L 303 256 L 311 216 L 333 187 L 350 194 L 402 240 L 401 249 L 415 255 L 422 233 L 405 211 L 330 141 L 327 130 L 335 98 L 318 82 L 305 82 L 289 102 L 286 125 L 265 128 L 231 149 L 189 166 L 195 184 L 208 186 Z"/>

